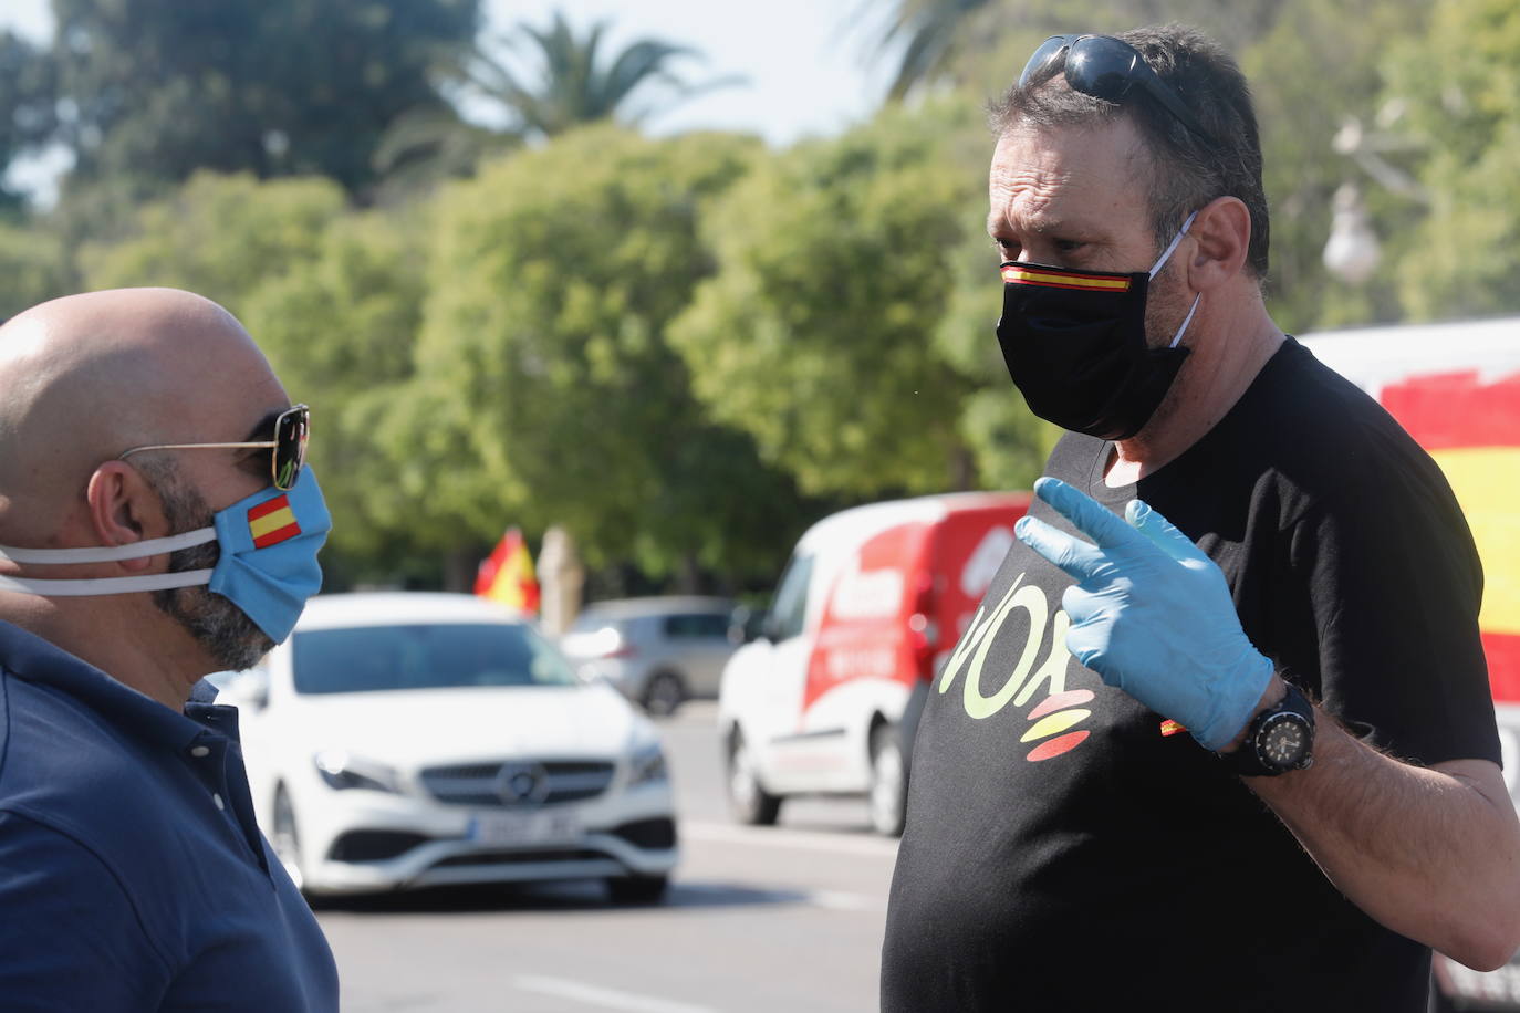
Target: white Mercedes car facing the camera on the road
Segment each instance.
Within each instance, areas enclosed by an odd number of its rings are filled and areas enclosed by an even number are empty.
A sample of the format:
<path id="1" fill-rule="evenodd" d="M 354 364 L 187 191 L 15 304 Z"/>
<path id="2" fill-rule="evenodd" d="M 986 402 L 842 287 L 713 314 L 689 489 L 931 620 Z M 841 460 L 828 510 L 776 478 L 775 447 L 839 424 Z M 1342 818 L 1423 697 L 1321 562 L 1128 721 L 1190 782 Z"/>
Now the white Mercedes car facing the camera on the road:
<path id="1" fill-rule="evenodd" d="M 319 595 L 219 697 L 258 823 L 310 895 L 600 878 L 676 864 L 654 726 L 523 617 L 453 594 Z"/>

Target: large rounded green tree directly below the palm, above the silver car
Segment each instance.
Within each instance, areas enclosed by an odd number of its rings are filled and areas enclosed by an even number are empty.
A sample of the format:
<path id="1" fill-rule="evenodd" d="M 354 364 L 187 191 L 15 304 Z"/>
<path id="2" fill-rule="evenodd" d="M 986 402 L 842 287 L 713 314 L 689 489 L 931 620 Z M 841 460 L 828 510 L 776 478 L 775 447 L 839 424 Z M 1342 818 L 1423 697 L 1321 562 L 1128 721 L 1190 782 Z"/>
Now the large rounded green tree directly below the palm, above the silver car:
<path id="1" fill-rule="evenodd" d="M 711 270 L 701 208 L 754 153 L 590 128 L 441 194 L 418 377 L 382 428 L 439 548 L 558 522 L 593 565 L 774 566 L 789 481 L 707 419 L 666 339 Z"/>

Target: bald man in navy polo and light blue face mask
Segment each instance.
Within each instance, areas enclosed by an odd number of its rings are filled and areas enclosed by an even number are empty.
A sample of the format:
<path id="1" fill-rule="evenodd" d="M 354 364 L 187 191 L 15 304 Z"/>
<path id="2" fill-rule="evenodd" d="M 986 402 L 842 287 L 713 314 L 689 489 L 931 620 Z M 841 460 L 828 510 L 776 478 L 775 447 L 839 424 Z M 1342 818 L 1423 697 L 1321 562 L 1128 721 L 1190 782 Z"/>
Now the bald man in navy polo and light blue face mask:
<path id="1" fill-rule="evenodd" d="M 237 711 L 199 688 L 321 586 L 306 436 L 248 333 L 187 292 L 0 327 L 5 1010 L 337 1010 Z"/>

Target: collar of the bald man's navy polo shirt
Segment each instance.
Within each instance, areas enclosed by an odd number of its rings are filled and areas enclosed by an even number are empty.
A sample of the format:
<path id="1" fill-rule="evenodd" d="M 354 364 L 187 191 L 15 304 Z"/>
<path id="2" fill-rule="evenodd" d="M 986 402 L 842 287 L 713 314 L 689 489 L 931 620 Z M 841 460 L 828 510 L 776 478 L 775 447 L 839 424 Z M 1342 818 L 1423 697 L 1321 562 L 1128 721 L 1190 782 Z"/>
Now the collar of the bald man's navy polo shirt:
<path id="1" fill-rule="evenodd" d="M 116 727 L 167 749 L 188 747 L 207 734 L 208 724 L 230 738 L 237 737 L 237 708 L 192 703 L 187 705 L 187 711 L 201 718 L 193 720 L 117 682 L 41 636 L 3 621 L 0 621 L 0 667 L 27 682 L 67 693 L 109 718 Z"/>

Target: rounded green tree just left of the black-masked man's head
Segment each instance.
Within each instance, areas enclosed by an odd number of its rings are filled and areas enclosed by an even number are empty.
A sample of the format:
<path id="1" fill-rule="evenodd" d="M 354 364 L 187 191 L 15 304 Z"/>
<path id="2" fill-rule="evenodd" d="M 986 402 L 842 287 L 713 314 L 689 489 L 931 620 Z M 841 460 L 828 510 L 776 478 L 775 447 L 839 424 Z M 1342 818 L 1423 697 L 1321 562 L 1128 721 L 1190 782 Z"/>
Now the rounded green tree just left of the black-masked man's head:
<path id="1" fill-rule="evenodd" d="M 970 478 L 958 416 L 971 383 L 933 346 L 950 252 L 985 200 L 985 169 L 952 155 L 964 123 L 891 109 L 801 144 L 763 161 L 707 225 L 720 270 L 672 340 L 713 415 L 810 494 Z"/>

